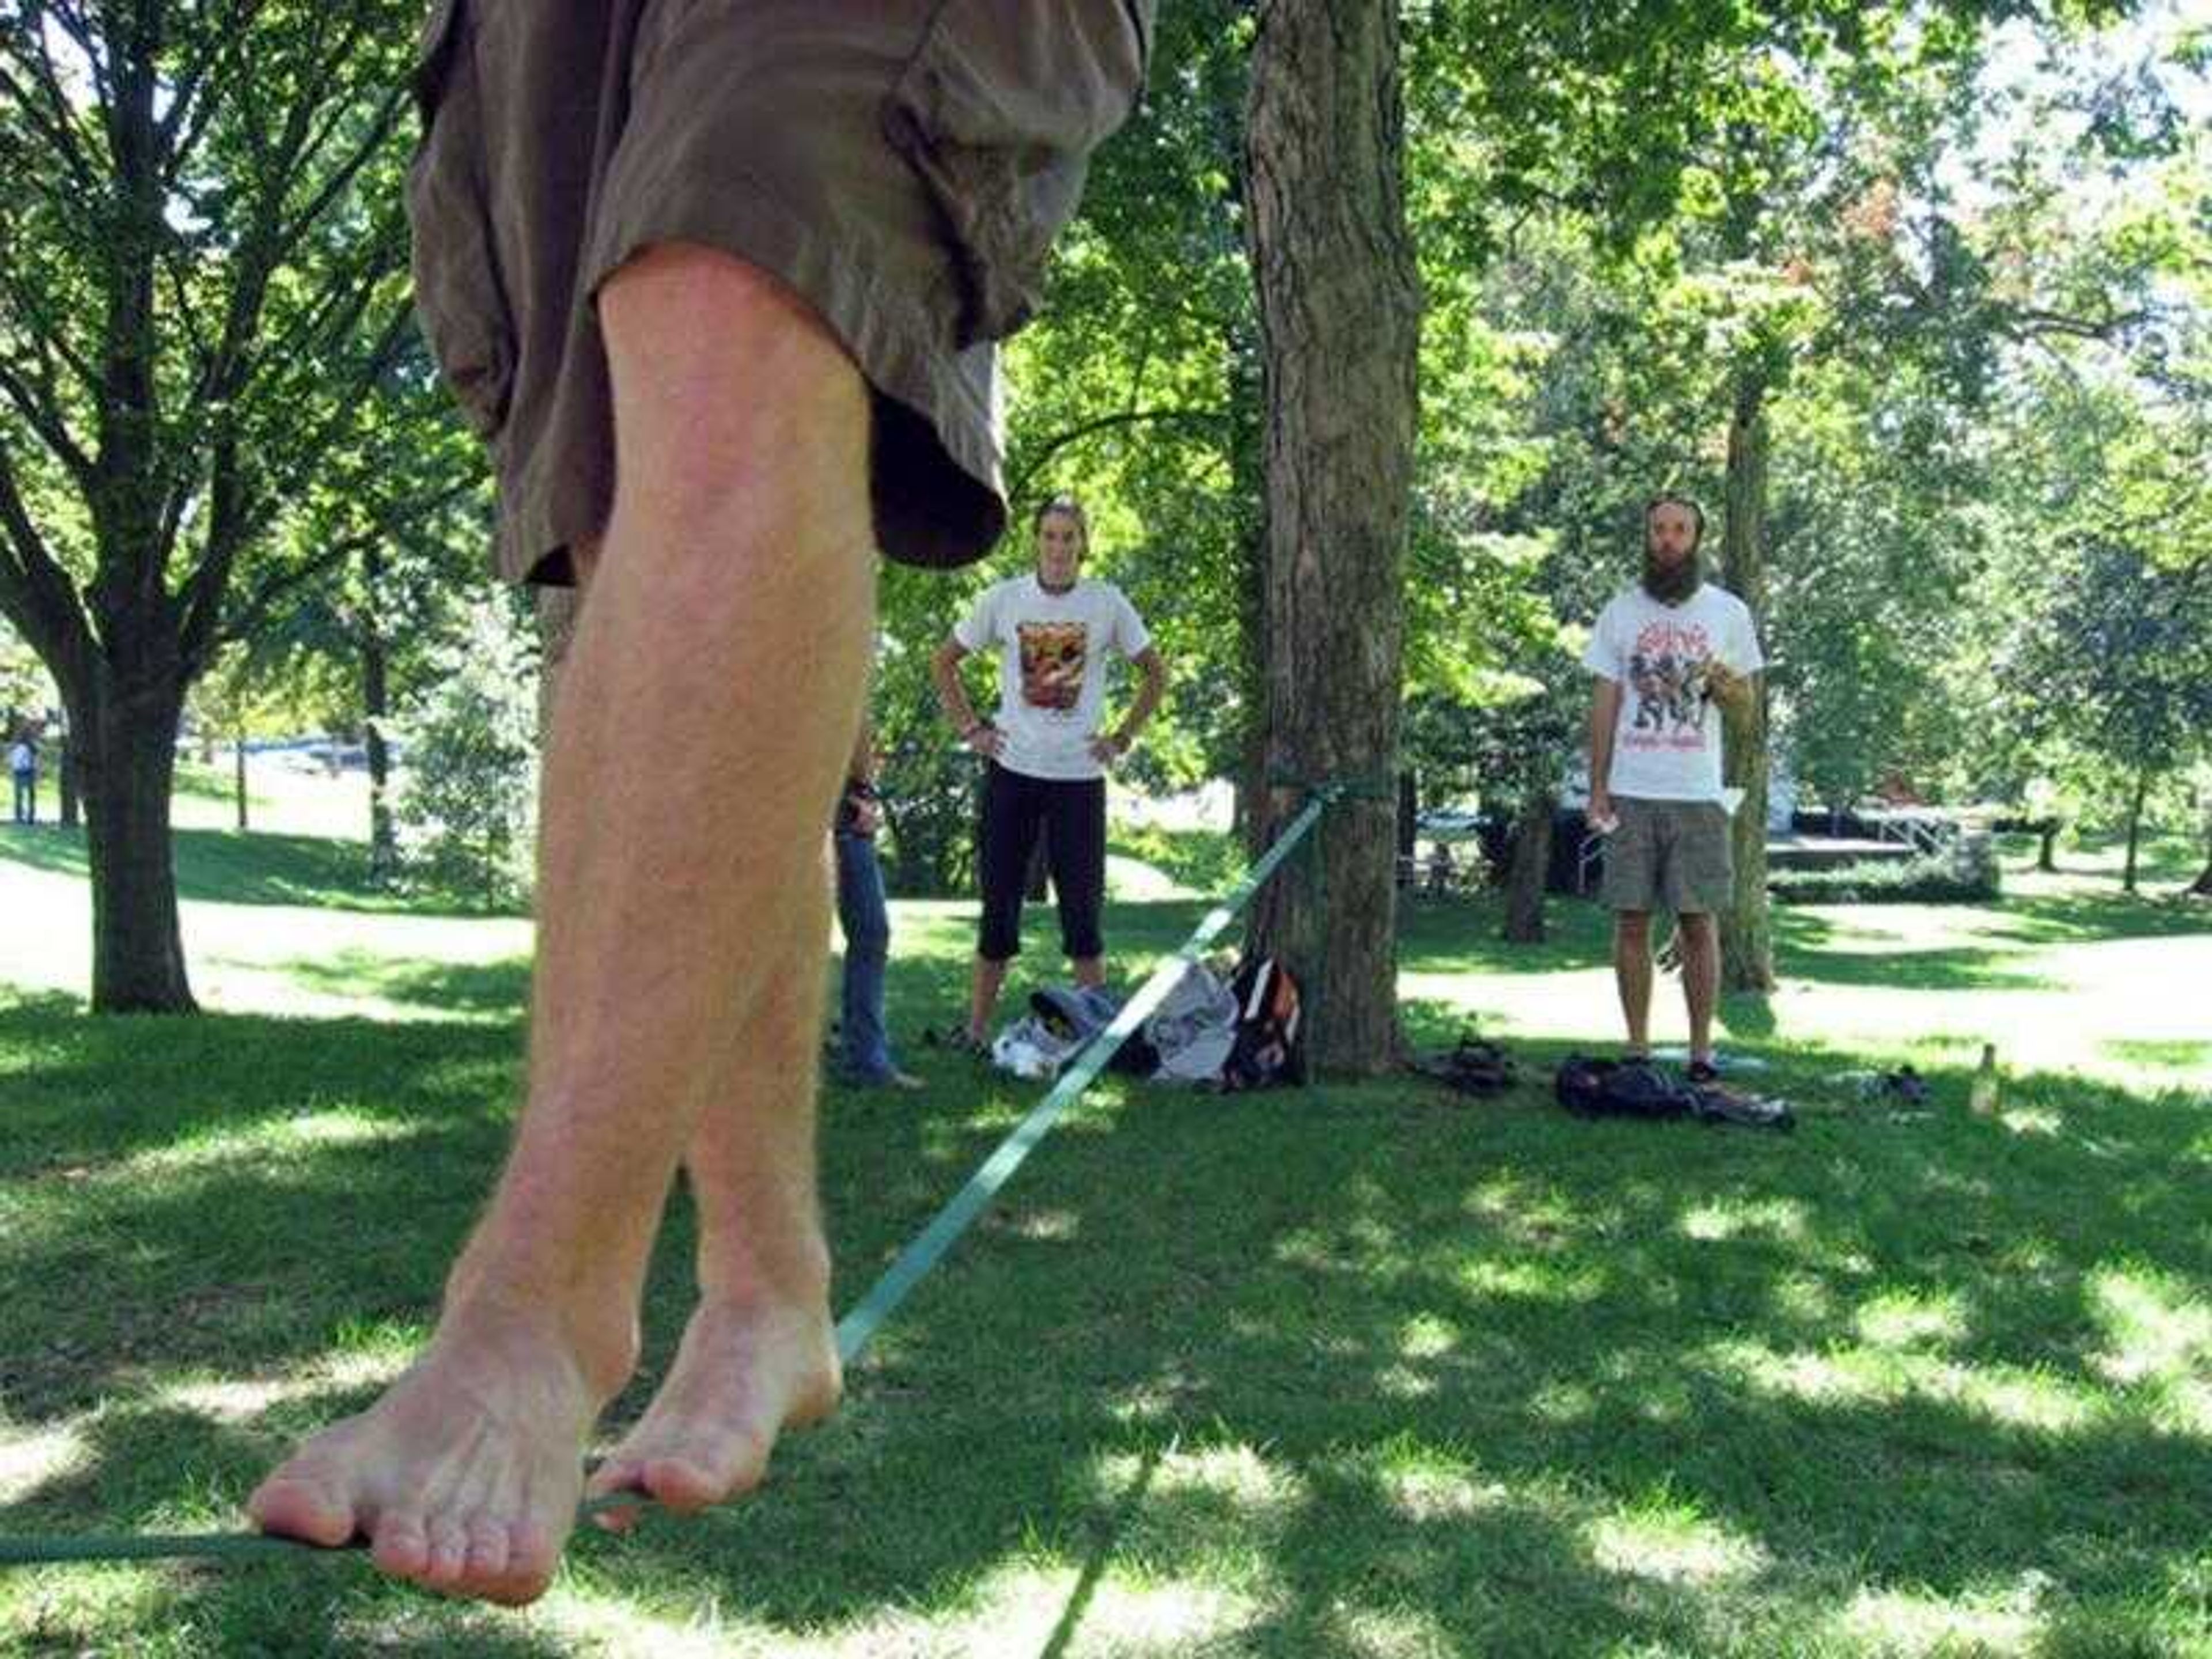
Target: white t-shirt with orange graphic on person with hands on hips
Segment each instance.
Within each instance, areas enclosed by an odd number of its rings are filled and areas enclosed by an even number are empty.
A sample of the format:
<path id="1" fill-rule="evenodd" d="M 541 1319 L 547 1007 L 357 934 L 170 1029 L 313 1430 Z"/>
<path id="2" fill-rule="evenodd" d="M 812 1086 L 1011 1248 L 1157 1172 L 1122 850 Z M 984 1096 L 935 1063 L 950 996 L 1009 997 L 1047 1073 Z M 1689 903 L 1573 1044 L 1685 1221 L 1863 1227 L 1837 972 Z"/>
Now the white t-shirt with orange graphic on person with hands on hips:
<path id="1" fill-rule="evenodd" d="M 1106 653 L 1139 655 L 1152 635 L 1113 582 L 1046 593 L 1018 575 L 987 588 L 953 628 L 967 650 L 998 650 L 998 763 L 1033 779 L 1095 779 L 1091 759 L 1106 703 Z"/>

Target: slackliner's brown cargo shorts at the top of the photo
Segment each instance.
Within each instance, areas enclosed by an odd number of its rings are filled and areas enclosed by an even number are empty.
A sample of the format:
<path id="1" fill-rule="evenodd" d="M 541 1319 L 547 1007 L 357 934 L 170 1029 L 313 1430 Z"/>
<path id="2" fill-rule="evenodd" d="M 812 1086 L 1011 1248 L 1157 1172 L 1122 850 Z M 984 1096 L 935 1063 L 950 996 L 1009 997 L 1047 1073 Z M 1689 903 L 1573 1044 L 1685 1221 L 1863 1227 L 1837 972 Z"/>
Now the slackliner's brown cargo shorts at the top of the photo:
<path id="1" fill-rule="evenodd" d="M 1155 0 L 436 0 L 416 303 L 500 482 L 495 557 L 566 582 L 615 489 L 593 296 L 650 243 L 796 290 L 874 389 L 883 551 L 1006 524 L 995 341 L 1035 305 Z"/>

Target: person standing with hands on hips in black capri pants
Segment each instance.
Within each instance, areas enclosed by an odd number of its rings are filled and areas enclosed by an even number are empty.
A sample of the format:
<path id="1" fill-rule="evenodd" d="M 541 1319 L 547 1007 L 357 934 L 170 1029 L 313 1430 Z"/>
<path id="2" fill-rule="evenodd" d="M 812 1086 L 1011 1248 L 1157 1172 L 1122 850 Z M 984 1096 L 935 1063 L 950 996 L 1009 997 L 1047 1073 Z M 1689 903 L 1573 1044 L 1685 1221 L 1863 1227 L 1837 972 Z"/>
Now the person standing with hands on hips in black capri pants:
<path id="1" fill-rule="evenodd" d="M 967 1046 L 991 1042 L 1006 964 L 1022 949 L 1022 887 L 1044 834 L 1060 898 L 1060 947 L 1075 982 L 1106 984 L 1106 768 L 1121 761 L 1168 690 L 1168 666 L 1137 608 L 1113 582 L 1084 577 L 1091 524 L 1071 495 L 1031 522 L 1035 568 L 987 588 L 938 646 L 938 701 L 960 739 L 987 757 L 975 869 L 982 925 L 969 987 Z M 960 684 L 971 653 L 998 653 L 998 714 L 980 719 Z M 1141 681 L 1121 726 L 1104 732 L 1106 653 Z"/>

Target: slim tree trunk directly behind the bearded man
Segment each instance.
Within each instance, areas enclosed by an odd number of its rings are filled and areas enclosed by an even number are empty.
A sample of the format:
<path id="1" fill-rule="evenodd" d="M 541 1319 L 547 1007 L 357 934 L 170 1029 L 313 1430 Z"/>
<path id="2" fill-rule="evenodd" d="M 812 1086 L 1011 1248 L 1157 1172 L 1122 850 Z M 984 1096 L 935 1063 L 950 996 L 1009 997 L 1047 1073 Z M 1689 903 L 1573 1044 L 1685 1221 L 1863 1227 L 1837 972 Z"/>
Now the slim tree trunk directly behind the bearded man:
<path id="1" fill-rule="evenodd" d="M 1767 617 L 1767 385 L 1759 374 L 1736 380 L 1728 422 L 1728 511 L 1721 531 L 1721 582 L 1752 611 L 1765 635 Z M 1728 712 L 1725 779 L 1743 790 L 1730 836 L 1736 856 L 1736 902 L 1721 918 L 1721 984 L 1728 991 L 1774 989 L 1774 927 L 1767 914 L 1767 679 Z"/>

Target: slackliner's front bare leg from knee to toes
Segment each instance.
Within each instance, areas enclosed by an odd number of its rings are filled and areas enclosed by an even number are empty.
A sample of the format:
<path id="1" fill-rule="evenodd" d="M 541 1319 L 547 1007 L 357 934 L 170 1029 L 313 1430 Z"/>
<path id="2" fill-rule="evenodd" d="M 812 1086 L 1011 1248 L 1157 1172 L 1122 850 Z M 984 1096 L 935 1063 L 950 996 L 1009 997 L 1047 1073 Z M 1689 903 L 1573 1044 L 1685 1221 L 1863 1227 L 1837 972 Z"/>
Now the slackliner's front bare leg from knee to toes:
<path id="1" fill-rule="evenodd" d="M 867 396 L 812 314 L 697 248 L 641 254 L 599 314 L 619 489 L 546 754 L 529 1102 L 425 1356 L 252 1498 L 268 1531 L 365 1533 L 387 1573 L 507 1601 L 551 1579 L 635 1365 L 679 1155 L 703 1113 L 776 1106 L 743 1042 L 821 978 L 872 628 Z M 812 1121 L 752 1150 L 745 1197 L 807 1194 L 748 1214 L 754 1254 L 821 1261 Z M 827 1325 L 796 1281 L 772 1294 L 810 1312 L 763 1329 Z"/>

